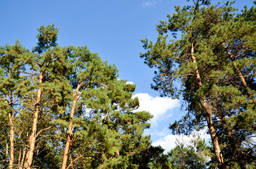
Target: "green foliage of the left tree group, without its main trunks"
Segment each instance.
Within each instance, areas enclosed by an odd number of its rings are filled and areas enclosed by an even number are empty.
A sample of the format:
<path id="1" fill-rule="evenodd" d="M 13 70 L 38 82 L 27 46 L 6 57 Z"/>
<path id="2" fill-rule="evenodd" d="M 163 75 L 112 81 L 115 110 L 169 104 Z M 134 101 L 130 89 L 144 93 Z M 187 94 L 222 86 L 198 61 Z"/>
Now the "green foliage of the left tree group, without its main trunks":
<path id="1" fill-rule="evenodd" d="M 87 46 L 58 46 L 54 24 L 37 30 L 32 51 L 0 46 L 0 168 L 10 159 L 11 124 L 13 166 L 23 168 L 37 110 L 34 168 L 61 168 L 71 121 L 67 167 L 168 168 L 164 150 L 142 135 L 152 115 L 135 112 L 135 84 L 118 80 L 116 66 Z"/>

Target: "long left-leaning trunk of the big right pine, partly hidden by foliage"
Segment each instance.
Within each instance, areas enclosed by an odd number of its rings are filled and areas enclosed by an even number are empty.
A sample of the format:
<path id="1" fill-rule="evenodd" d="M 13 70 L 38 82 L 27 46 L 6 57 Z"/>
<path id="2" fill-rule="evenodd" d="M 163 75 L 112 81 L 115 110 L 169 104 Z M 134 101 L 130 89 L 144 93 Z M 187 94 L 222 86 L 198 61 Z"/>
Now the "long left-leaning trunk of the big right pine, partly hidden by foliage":
<path id="1" fill-rule="evenodd" d="M 193 63 L 197 63 L 196 58 L 194 56 L 194 49 L 195 49 L 194 44 L 193 44 L 193 42 L 191 42 L 191 57 L 192 57 Z M 197 80 L 199 89 L 201 89 L 202 80 L 201 80 L 200 73 L 199 73 L 197 66 L 195 66 L 195 79 Z M 216 135 L 216 132 L 214 129 L 214 124 L 212 122 L 212 108 L 209 106 L 209 104 L 207 104 L 207 101 L 205 100 L 204 96 L 202 96 L 200 98 L 200 104 L 202 105 L 203 110 L 205 111 L 205 114 L 206 114 L 207 126 L 208 126 L 209 133 L 211 135 L 211 138 L 212 138 L 212 144 L 214 147 L 215 155 L 217 157 L 217 162 L 218 162 L 219 168 L 225 169 L 226 165 L 224 163 L 224 158 L 221 154 L 218 137 Z"/>

